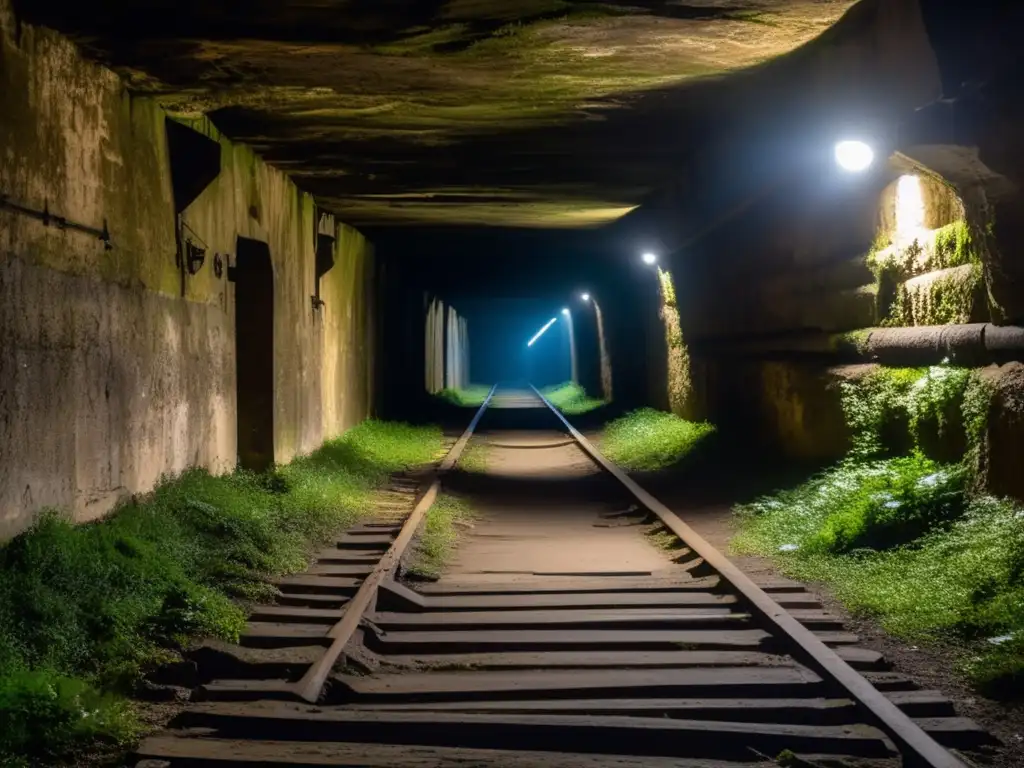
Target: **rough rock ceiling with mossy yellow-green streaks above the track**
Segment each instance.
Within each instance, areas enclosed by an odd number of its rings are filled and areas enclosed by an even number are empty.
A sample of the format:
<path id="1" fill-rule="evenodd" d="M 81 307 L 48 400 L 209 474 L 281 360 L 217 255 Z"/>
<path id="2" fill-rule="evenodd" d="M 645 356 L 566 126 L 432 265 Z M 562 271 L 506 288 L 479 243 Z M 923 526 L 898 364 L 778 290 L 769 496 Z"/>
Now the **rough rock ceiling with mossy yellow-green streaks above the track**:
<path id="1" fill-rule="evenodd" d="M 20 11 L 209 115 L 356 225 L 583 227 L 708 133 L 718 83 L 854 0 L 99 0 Z"/>

